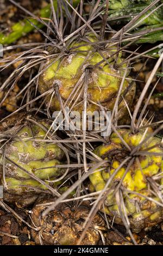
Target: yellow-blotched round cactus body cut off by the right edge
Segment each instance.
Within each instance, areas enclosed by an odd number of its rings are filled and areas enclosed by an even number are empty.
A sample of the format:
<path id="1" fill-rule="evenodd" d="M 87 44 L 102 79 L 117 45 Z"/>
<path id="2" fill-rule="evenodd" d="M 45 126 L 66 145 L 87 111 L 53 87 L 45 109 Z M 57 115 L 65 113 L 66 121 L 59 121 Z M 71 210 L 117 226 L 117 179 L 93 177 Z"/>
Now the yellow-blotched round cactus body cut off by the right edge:
<path id="1" fill-rule="evenodd" d="M 118 133 L 131 150 L 149 136 L 149 133 L 143 137 L 143 132 L 133 134 L 130 130 L 123 129 L 118 130 Z M 102 159 L 108 160 L 109 164 L 106 169 L 102 171 L 97 169 L 97 172 L 90 175 L 90 190 L 103 190 L 106 182 L 112 177 L 108 187 L 113 189 L 105 199 L 105 212 L 110 217 L 115 216 L 114 221 L 120 224 L 123 224 L 122 216 L 126 214 L 131 228 L 136 233 L 142 228 L 161 222 L 163 218 L 161 206 L 163 148 L 158 145 L 160 143 L 161 139 L 157 137 L 146 139 L 139 148 L 139 151 L 146 153 L 133 155 L 134 161 L 131 165 L 129 166 L 128 161 L 119 169 L 118 167 L 130 152 L 116 133 L 112 133 L 109 144 L 101 145 L 94 151 Z M 119 184 L 121 186 L 116 190 Z"/>

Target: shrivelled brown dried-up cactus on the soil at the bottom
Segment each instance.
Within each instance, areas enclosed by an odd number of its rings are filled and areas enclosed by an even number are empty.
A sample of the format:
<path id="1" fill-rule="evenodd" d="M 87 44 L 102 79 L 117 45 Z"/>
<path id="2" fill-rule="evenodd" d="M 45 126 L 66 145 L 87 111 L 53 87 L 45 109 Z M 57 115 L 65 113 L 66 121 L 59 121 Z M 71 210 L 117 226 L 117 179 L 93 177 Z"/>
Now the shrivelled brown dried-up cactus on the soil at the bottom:
<path id="1" fill-rule="evenodd" d="M 80 205 L 72 210 L 66 204 L 61 204 L 54 211 L 49 212 L 45 217 L 41 216 L 48 203 L 53 202 L 55 198 L 38 198 L 33 209 L 31 220 L 39 231 L 31 230 L 34 241 L 37 245 L 77 245 L 82 234 L 82 224 L 89 214 L 87 205 Z M 97 245 L 101 239 L 98 227 L 104 229 L 105 221 L 97 214 L 85 235 L 82 245 Z"/>

